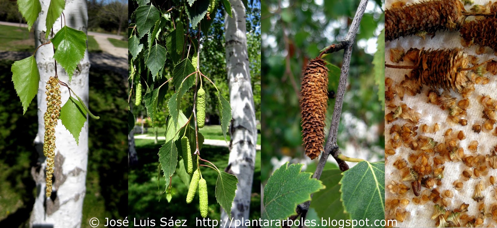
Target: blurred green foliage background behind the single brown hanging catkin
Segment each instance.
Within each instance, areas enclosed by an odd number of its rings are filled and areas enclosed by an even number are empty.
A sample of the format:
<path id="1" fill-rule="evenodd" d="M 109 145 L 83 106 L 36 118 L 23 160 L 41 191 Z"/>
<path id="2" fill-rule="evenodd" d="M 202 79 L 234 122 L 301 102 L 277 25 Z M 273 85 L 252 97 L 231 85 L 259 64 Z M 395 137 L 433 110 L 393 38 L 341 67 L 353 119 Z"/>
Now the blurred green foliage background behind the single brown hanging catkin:
<path id="1" fill-rule="evenodd" d="M 301 72 L 321 49 L 345 37 L 358 4 L 359 0 L 262 2 L 263 182 L 288 160 L 307 164 L 303 169 L 311 172 L 315 168 L 317 159 L 310 161 L 305 157 L 301 145 Z M 384 27 L 381 4 L 380 0 L 368 2 L 356 36 L 337 140 L 345 155 L 371 161 L 384 159 L 384 104 L 378 98 L 371 63 L 376 52 L 376 37 Z M 332 94 L 336 92 L 342 58 L 343 51 L 325 57 L 338 67 L 328 65 L 331 98 L 325 127 L 327 134 L 334 108 Z"/>

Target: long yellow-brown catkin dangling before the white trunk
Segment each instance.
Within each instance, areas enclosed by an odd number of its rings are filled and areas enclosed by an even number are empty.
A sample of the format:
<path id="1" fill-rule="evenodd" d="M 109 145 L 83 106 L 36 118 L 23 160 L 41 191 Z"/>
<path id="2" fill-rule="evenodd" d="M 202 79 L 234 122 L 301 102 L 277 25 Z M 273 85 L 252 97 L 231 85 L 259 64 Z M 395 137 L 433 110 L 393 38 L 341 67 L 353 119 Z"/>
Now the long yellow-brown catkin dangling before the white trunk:
<path id="1" fill-rule="evenodd" d="M 47 81 L 47 111 L 43 116 L 45 122 L 45 138 L 43 141 L 43 155 L 47 157 L 46 170 L 46 196 L 52 195 L 52 174 L 54 173 L 54 158 L 55 158 L 55 126 L 59 119 L 61 110 L 61 91 L 59 79 L 50 77 Z"/>

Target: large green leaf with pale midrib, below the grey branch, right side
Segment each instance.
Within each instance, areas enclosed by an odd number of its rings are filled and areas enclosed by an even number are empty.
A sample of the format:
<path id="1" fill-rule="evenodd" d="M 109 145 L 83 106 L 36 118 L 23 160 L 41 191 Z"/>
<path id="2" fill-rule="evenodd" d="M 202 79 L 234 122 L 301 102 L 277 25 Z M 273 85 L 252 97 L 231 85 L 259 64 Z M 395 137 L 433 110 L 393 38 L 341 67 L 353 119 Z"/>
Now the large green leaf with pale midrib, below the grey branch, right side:
<path id="1" fill-rule="evenodd" d="M 350 219 L 384 220 L 385 163 L 361 161 L 342 174 L 341 201 Z"/>

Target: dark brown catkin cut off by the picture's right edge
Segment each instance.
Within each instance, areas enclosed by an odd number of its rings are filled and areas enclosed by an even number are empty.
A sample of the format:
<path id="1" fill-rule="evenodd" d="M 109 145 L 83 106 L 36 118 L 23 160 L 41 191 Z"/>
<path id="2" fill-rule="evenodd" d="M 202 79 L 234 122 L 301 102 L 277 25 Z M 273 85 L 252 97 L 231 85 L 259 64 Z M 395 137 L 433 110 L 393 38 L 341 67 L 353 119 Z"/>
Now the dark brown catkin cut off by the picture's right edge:
<path id="1" fill-rule="evenodd" d="M 497 52 L 497 18 L 466 22 L 459 32 L 466 42 L 491 47 Z"/>

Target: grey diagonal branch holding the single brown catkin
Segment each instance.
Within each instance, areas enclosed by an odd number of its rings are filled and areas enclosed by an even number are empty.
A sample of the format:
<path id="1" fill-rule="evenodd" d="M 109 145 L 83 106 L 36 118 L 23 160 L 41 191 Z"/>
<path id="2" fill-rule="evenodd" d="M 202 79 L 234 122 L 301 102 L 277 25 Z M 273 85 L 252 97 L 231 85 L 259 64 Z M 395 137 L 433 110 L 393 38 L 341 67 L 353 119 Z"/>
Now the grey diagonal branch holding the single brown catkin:
<path id="1" fill-rule="evenodd" d="M 352 20 L 352 24 L 350 24 L 350 28 L 348 30 L 345 39 L 342 40 L 339 44 L 333 44 L 329 46 L 325 51 L 323 51 L 319 58 L 323 54 L 336 52 L 338 50 L 344 49 L 343 52 L 343 62 L 340 70 L 340 80 L 338 82 L 338 89 L 336 91 L 336 100 L 335 107 L 333 110 L 333 117 L 331 118 L 331 126 L 330 131 L 328 133 L 328 139 L 326 141 L 326 146 L 319 160 L 318 166 L 316 167 L 316 171 L 314 172 L 313 178 L 319 179 L 321 177 L 321 173 L 323 173 L 323 168 L 325 167 L 326 161 L 328 160 L 328 156 L 331 156 L 336 160 L 340 170 L 345 171 L 348 169 L 347 163 L 339 158 L 341 152 L 338 150 L 338 145 L 336 144 L 336 135 L 338 133 L 338 124 L 340 123 L 340 115 L 341 109 L 343 106 L 343 95 L 345 94 L 345 88 L 347 83 L 348 70 L 350 68 L 350 59 L 352 55 L 352 47 L 355 41 L 355 35 L 357 30 L 359 29 L 359 24 L 362 19 L 362 15 L 364 15 L 364 10 L 366 9 L 366 5 L 368 0 L 361 0 L 359 6 L 357 7 L 357 11 L 355 12 L 354 19 Z M 312 197 L 312 196 L 311 196 Z M 303 220 L 305 220 L 307 211 L 309 210 L 309 205 L 311 201 L 304 202 L 297 206 L 295 210 L 298 215 L 301 216 Z"/>

